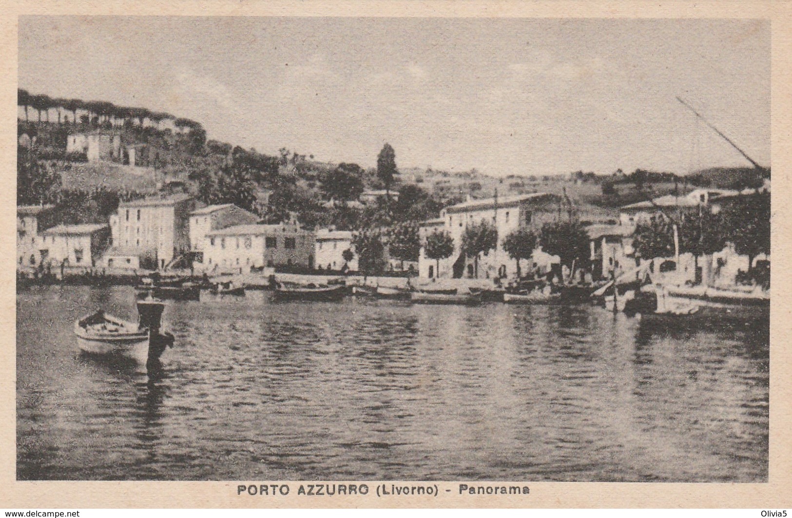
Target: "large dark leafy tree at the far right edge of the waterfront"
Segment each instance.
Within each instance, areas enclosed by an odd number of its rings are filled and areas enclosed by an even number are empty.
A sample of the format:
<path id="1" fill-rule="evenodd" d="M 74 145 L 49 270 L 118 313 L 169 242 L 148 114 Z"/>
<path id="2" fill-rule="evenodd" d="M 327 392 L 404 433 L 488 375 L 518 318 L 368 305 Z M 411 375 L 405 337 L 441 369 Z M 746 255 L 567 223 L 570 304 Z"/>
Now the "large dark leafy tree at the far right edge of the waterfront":
<path id="1" fill-rule="evenodd" d="M 726 237 L 741 255 L 748 256 L 748 270 L 760 253 L 770 253 L 770 192 L 738 196 L 723 209 Z"/>

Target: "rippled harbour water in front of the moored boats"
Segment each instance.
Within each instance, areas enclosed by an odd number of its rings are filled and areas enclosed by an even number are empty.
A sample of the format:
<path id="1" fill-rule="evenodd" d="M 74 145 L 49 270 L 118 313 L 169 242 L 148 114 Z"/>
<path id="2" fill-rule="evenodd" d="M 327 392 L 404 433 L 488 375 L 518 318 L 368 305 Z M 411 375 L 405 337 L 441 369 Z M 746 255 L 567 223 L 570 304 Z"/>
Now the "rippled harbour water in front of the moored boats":
<path id="1" fill-rule="evenodd" d="M 136 301 L 17 291 L 17 478 L 767 482 L 761 319 L 205 289 L 154 375 L 81 352 Z"/>

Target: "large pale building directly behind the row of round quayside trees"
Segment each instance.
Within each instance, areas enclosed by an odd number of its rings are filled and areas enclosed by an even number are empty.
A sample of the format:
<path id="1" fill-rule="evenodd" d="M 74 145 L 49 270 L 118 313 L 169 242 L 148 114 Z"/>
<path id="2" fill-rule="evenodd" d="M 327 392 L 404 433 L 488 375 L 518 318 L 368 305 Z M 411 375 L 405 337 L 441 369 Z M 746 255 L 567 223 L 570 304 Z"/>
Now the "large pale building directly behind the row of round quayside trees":
<path id="1" fill-rule="evenodd" d="M 505 253 L 502 242 L 510 232 L 520 227 L 531 228 L 539 231 L 544 223 L 549 223 L 557 218 L 558 196 L 546 192 L 534 192 L 520 196 L 505 196 L 503 198 L 487 198 L 483 200 L 467 200 L 461 204 L 451 205 L 440 212 L 439 220 L 429 220 L 421 224 L 421 237 L 432 231 L 444 230 L 454 239 L 454 253 L 447 259 L 441 259 L 439 272 L 438 261 L 428 259 L 425 250 L 421 248 L 418 259 L 419 276 L 453 278 L 495 278 L 516 275 L 516 261 Z M 462 253 L 462 236 L 468 225 L 472 223 L 487 222 L 497 230 L 497 246 L 488 252 L 482 253 L 475 261 L 474 257 L 466 257 Z M 476 269 L 478 262 L 478 271 Z M 550 264 L 558 262 L 558 257 L 550 256 L 538 250 L 533 261 L 521 261 L 520 269 L 539 269 L 546 272 Z M 431 274 L 431 275 L 430 275 Z"/>

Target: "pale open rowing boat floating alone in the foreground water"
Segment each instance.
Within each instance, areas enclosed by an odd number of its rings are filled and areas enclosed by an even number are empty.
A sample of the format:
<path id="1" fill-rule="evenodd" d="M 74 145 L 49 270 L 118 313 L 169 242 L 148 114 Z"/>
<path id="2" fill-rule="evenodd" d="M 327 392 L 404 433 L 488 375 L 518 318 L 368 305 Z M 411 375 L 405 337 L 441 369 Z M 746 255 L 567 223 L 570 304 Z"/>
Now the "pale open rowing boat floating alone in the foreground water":
<path id="1" fill-rule="evenodd" d="M 91 354 L 124 354 L 146 360 L 148 329 L 105 313 L 94 311 L 74 323 L 80 349 Z"/>

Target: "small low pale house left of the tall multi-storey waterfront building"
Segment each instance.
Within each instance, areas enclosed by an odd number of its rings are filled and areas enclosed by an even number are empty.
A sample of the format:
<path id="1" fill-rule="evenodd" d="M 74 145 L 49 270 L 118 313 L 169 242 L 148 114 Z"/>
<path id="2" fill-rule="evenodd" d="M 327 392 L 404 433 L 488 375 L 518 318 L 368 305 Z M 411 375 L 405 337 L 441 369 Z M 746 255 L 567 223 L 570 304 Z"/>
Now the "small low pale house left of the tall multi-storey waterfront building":
<path id="1" fill-rule="evenodd" d="M 58 225 L 41 233 L 41 246 L 51 266 L 93 268 L 99 264 L 109 238 L 107 223 Z"/>

